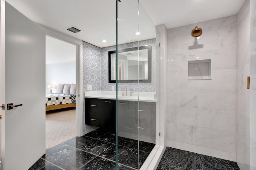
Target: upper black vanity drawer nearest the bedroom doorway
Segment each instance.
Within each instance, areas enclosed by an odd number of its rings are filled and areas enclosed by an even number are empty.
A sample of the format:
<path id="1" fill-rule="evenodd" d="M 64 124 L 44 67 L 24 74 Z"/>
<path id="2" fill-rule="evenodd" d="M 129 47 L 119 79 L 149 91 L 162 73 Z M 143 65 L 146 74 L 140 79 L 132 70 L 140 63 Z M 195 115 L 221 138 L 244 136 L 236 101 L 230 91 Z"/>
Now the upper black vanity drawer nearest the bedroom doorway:
<path id="1" fill-rule="evenodd" d="M 102 113 L 102 99 L 85 98 L 85 110 Z"/>

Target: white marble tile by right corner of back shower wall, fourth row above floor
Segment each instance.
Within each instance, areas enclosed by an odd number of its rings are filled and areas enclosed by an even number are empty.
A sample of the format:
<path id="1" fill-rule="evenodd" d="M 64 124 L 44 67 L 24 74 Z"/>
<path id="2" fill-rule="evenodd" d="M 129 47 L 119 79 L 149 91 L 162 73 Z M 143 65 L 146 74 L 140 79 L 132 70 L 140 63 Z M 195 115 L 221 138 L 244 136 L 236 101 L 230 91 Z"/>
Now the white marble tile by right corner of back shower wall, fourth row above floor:
<path id="1" fill-rule="evenodd" d="M 198 90 L 198 108 L 236 109 L 236 90 Z"/>

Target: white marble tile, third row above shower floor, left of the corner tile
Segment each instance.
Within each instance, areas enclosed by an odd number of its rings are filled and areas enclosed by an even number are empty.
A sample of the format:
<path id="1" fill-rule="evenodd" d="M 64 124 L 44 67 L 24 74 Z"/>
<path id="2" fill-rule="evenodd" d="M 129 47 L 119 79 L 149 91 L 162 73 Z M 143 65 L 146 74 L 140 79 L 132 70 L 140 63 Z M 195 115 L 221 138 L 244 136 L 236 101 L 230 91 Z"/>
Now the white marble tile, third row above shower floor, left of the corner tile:
<path id="1" fill-rule="evenodd" d="M 197 108 L 177 107 L 176 123 L 197 126 Z"/>

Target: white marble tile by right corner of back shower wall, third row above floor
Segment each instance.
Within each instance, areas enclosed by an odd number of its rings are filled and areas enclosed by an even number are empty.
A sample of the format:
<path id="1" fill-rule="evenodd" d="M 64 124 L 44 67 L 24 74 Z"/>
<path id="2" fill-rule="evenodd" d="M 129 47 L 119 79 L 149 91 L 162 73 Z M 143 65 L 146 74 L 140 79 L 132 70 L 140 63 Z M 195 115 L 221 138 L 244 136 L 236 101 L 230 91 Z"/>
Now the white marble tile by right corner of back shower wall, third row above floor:
<path id="1" fill-rule="evenodd" d="M 198 108 L 198 127 L 236 131 L 236 110 Z"/>

